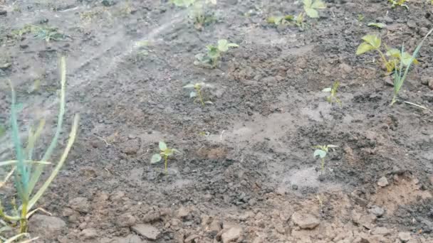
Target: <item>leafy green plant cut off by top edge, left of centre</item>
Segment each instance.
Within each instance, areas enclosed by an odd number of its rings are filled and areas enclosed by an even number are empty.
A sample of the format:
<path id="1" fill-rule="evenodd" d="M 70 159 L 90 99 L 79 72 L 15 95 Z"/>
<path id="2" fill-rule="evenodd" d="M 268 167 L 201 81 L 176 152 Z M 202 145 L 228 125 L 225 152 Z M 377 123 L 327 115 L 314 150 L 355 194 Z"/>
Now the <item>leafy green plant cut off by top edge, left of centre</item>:
<path id="1" fill-rule="evenodd" d="M 201 31 L 204 26 L 216 21 L 211 6 L 216 5 L 216 0 L 172 0 L 172 4 L 189 8 L 189 18 L 194 23 L 194 28 Z"/>

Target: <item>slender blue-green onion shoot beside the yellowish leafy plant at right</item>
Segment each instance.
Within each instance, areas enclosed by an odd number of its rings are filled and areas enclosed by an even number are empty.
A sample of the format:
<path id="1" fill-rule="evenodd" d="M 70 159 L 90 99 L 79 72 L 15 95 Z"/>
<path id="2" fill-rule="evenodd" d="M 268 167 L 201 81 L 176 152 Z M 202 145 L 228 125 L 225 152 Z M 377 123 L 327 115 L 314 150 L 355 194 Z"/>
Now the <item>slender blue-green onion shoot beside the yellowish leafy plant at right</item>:
<path id="1" fill-rule="evenodd" d="M 395 102 L 398 101 L 397 96 L 398 93 L 400 92 L 400 89 L 402 88 L 403 83 L 406 80 L 407 77 L 407 73 L 409 72 L 409 68 L 412 65 L 412 63 L 415 63 L 416 61 L 416 57 L 419 53 L 419 50 L 421 50 L 422 45 L 424 44 L 424 41 L 427 39 L 427 37 L 429 37 L 429 35 L 432 33 L 433 28 L 427 33 L 426 36 L 424 36 L 424 38 L 422 38 L 421 43 L 419 43 L 419 45 L 417 46 L 417 48 L 414 50 L 414 53 L 412 54 L 412 56 L 410 56 L 409 60 L 407 60 L 406 65 L 404 64 L 404 62 L 400 62 L 400 68 L 396 69 L 394 72 L 394 95 L 392 96 L 392 101 L 391 104 L 394 104 Z M 400 51 L 400 56 L 405 57 L 405 45 L 402 45 L 402 50 Z M 397 63 L 395 63 L 395 65 L 397 65 Z M 406 66 L 405 72 L 403 72 L 403 66 Z M 412 103 L 413 104 L 413 103 Z M 418 105 L 417 105 L 418 106 Z"/>

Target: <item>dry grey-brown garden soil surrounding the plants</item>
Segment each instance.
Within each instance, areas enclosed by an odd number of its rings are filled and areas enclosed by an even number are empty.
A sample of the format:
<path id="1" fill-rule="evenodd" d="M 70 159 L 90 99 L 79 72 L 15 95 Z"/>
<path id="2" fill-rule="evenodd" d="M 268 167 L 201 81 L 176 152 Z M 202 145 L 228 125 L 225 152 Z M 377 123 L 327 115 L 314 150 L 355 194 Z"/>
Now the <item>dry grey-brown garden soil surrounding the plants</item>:
<path id="1" fill-rule="evenodd" d="M 328 0 L 300 29 L 265 21 L 298 13 L 298 1 L 219 0 L 219 20 L 202 31 L 165 1 L 104 2 L 110 6 L 0 0 L 0 67 L 11 63 L 0 79 L 18 90 L 23 127 L 38 117 L 54 122 L 62 54 L 65 141 L 73 114 L 81 116 L 66 166 L 38 204 L 66 227 L 30 225 L 41 242 L 219 242 L 237 229 L 235 242 L 400 242 L 403 232 L 410 242 L 433 242 L 433 112 L 390 107 L 389 77 L 372 63 L 377 55 L 355 55 L 367 33 L 413 51 L 433 27 L 429 1 L 409 1 L 407 11 L 385 0 Z M 26 23 L 47 23 L 68 38 L 11 36 Z M 221 38 L 239 48 L 216 69 L 194 66 L 194 55 Z M 432 47 L 430 38 L 401 100 L 432 107 Z M 214 104 L 205 107 L 182 88 L 203 81 L 214 85 L 206 92 Z M 321 92 L 334 81 L 342 107 Z M 2 124 L 9 93 L 0 82 Z M 47 142 L 53 129 L 45 133 Z M 167 174 L 163 163 L 150 164 L 158 141 L 182 152 L 169 159 Z M 9 135 L 0 144 L 0 159 L 10 158 Z M 338 145 L 324 173 L 313 158 L 318 144 Z M 377 185 L 382 177 L 385 187 Z M 6 189 L 2 195 L 11 195 Z M 302 229 L 294 212 L 320 224 Z M 137 234 L 140 224 L 155 227 L 157 239 Z"/>

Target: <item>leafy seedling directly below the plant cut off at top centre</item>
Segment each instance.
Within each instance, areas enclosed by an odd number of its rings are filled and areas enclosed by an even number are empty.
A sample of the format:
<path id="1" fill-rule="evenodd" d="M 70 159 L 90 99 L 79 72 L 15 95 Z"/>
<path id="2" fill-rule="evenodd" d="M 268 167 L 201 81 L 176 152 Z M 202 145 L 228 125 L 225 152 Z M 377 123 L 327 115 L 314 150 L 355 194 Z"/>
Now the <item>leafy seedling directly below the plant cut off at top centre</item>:
<path id="1" fill-rule="evenodd" d="M 207 53 L 199 53 L 195 55 L 194 65 L 201 66 L 203 68 L 216 68 L 221 59 L 221 55 L 226 53 L 229 48 L 237 48 L 238 44 L 229 43 L 229 41 L 221 39 L 217 45 L 207 45 Z"/>

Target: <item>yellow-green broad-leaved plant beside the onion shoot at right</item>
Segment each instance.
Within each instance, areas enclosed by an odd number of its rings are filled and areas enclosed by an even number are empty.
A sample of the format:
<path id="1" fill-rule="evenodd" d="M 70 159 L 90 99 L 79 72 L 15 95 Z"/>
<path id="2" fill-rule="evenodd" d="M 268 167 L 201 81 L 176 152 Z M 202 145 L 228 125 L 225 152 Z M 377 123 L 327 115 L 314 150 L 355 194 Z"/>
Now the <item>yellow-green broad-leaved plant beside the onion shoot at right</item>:
<path id="1" fill-rule="evenodd" d="M 404 66 L 407 66 L 409 64 L 409 61 L 411 60 L 411 55 L 409 53 L 400 53 L 399 50 L 395 48 L 387 48 L 387 46 L 385 45 L 385 48 L 387 49 L 386 56 L 389 57 L 386 58 L 385 54 L 382 53 L 382 50 L 380 50 L 382 41 L 379 36 L 367 35 L 362 37 L 362 41 L 364 42 L 362 42 L 358 46 L 358 50 L 356 50 L 356 55 L 367 53 L 370 50 L 376 50 L 377 53 L 379 53 L 387 72 L 392 72 L 393 70 L 400 67 L 400 63 L 402 63 L 402 65 Z M 415 64 L 418 63 L 416 59 L 413 60 L 413 62 Z"/>

